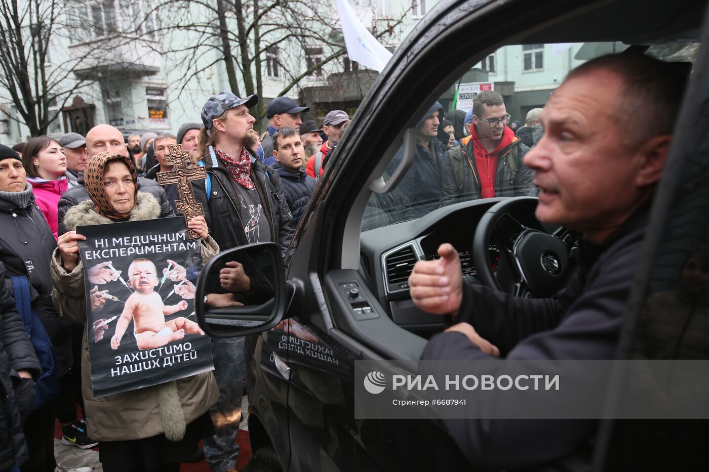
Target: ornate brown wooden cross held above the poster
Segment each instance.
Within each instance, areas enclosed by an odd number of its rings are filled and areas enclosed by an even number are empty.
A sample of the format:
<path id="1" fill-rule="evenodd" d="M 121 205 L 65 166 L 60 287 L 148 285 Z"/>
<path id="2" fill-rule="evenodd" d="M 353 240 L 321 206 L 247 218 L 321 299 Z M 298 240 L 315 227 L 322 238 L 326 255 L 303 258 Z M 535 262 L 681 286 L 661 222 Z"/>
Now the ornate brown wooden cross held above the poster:
<path id="1" fill-rule="evenodd" d="M 203 216 L 204 210 L 201 203 L 194 201 L 194 192 L 190 182 L 207 178 L 207 171 L 204 167 L 189 167 L 192 159 L 186 151 L 182 150 L 182 145 L 172 145 L 169 153 L 165 154 L 165 161 L 172 165 L 172 170 L 157 173 L 157 183 L 160 185 L 177 184 L 179 200 L 175 200 L 177 211 L 184 215 L 185 225 L 195 216 Z M 189 239 L 196 240 L 199 235 L 193 230 L 187 230 Z"/>

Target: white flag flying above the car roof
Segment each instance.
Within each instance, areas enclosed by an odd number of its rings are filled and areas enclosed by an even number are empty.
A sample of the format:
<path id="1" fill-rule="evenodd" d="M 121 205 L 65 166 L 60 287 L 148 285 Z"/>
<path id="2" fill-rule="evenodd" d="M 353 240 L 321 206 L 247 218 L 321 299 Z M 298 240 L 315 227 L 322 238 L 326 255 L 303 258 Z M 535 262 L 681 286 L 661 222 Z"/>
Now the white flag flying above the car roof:
<path id="1" fill-rule="evenodd" d="M 364 28 L 362 21 L 359 21 L 347 0 L 337 0 L 337 11 L 340 13 L 342 35 L 345 37 L 347 55 L 350 59 L 379 72 L 384 70 L 384 66 L 391 59 L 391 52 L 386 50 L 386 47 L 382 46 L 367 28 Z"/>

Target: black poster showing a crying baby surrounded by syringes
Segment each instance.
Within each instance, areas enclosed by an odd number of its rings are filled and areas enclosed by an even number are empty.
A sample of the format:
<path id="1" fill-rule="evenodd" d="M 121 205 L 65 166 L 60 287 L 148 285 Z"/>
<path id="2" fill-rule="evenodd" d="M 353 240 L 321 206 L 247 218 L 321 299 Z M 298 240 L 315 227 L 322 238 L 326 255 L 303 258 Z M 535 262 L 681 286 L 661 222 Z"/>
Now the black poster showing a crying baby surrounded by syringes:
<path id="1" fill-rule="evenodd" d="M 213 369 L 196 323 L 201 241 L 184 218 L 79 226 L 94 397 Z"/>

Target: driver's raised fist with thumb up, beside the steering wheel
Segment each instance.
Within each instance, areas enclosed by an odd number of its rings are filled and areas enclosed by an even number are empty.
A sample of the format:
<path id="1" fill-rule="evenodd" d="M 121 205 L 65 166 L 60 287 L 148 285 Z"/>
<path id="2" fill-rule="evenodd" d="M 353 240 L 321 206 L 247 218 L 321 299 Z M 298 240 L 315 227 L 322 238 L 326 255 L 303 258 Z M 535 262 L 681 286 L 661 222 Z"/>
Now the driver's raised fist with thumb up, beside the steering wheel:
<path id="1" fill-rule="evenodd" d="M 419 261 L 408 277 L 411 300 L 421 310 L 435 315 L 458 314 L 463 299 L 463 276 L 455 248 L 442 244 L 440 259 Z"/>

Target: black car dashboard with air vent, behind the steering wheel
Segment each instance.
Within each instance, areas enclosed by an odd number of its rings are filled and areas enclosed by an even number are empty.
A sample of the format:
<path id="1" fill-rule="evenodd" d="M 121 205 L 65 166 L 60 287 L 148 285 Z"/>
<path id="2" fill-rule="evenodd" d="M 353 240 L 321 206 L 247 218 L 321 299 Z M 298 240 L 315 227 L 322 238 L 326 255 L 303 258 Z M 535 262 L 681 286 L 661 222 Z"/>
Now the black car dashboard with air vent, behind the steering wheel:
<path id="1" fill-rule="evenodd" d="M 442 330 L 441 316 L 425 313 L 413 304 L 408 276 L 416 262 L 437 259 L 438 247 L 449 242 L 458 251 L 462 274 L 476 280 L 477 269 L 471 255 L 475 230 L 484 213 L 503 200 L 488 198 L 456 203 L 434 210 L 418 220 L 362 233 L 360 271 L 393 322 L 424 337 Z M 530 227 L 539 224 L 533 213 L 521 216 Z M 499 251 L 494 242 L 489 244 L 487 263 L 493 271 L 497 269 Z"/>

